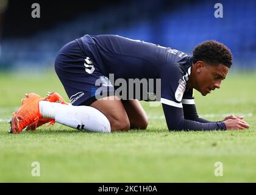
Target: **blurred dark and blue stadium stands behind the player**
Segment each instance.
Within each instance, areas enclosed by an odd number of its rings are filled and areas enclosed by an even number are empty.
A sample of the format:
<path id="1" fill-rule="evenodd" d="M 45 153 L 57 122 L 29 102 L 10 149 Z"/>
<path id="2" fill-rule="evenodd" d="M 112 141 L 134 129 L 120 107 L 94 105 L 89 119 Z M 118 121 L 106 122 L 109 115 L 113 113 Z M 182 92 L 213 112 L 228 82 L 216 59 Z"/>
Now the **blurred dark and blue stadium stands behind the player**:
<path id="1" fill-rule="evenodd" d="M 41 18 L 31 5 L 40 4 Z M 215 18 L 220 2 L 223 18 Z M 0 0 L 0 71 L 41 71 L 68 41 L 84 34 L 118 34 L 191 54 L 204 40 L 233 53 L 232 69 L 255 69 L 256 1 L 14 1 Z"/>

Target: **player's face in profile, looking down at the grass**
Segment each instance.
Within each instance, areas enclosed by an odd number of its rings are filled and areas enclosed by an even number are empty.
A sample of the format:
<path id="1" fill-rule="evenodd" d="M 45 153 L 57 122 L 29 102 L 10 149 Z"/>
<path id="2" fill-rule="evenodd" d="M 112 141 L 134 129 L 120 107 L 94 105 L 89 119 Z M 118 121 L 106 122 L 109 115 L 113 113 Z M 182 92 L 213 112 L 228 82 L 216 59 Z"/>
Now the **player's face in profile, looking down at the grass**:
<path id="1" fill-rule="evenodd" d="M 212 66 L 204 63 L 204 66 L 200 69 L 200 74 L 197 75 L 197 90 L 203 96 L 206 96 L 215 88 L 220 88 L 221 82 L 226 78 L 228 72 L 229 68 L 222 64 Z"/>

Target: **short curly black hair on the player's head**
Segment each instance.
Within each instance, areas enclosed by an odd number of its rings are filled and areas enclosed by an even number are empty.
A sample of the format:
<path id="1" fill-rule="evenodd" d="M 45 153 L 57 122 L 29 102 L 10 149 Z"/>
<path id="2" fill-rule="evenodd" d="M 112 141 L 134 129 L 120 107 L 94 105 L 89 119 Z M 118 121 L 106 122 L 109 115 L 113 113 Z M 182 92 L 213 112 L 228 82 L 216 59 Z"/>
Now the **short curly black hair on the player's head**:
<path id="1" fill-rule="evenodd" d="M 230 68 L 232 65 L 232 53 L 227 46 L 215 40 L 204 41 L 197 44 L 193 51 L 193 63 L 204 61 L 210 65 L 223 65 Z"/>

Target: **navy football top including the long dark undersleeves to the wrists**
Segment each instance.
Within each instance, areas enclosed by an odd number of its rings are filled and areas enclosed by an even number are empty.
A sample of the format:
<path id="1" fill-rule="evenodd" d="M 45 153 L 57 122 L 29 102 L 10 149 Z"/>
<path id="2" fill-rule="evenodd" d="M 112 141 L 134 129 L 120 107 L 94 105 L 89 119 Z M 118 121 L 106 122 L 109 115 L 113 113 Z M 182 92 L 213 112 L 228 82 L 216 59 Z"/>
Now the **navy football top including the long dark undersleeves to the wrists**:
<path id="1" fill-rule="evenodd" d="M 197 115 L 193 89 L 187 88 L 192 66 L 190 55 L 119 35 L 85 35 L 76 41 L 87 57 L 85 66 L 96 65 L 106 78 L 113 74 L 115 79 L 112 82 L 124 79 L 129 83 L 129 79 L 146 79 L 149 84 L 154 80 L 153 93 L 157 96 L 161 89 L 156 100 L 162 102 L 169 130 L 226 130 L 224 122 L 207 121 Z M 93 76 L 94 69 L 87 71 Z M 161 87 L 156 84 L 159 79 Z M 146 98 L 139 96 L 132 99 L 151 100 L 151 92 L 148 91 Z M 130 97 L 130 94 L 127 95 Z"/>

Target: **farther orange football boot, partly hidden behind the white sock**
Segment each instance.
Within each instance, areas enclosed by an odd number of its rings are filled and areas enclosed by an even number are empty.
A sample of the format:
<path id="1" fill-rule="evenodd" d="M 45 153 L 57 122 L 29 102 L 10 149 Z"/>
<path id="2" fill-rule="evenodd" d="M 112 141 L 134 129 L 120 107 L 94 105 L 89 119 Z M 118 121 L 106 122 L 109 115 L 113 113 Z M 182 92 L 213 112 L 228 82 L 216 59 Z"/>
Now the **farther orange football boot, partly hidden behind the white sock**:
<path id="1" fill-rule="evenodd" d="M 62 98 L 62 96 L 60 96 L 60 94 L 57 93 L 57 92 L 54 92 L 54 93 L 48 92 L 48 94 L 47 94 L 46 98 L 44 98 L 44 100 L 48 101 L 48 102 L 56 102 L 56 103 L 68 105 L 68 103 L 66 103 L 65 100 Z M 51 119 L 51 118 L 41 118 L 41 119 L 38 120 L 38 122 L 32 122 L 31 124 L 29 124 L 27 126 L 26 130 L 36 130 L 37 127 L 40 127 L 43 124 L 46 124 L 48 122 L 51 122 L 49 124 L 49 126 L 55 124 L 55 120 L 54 119 Z"/>

